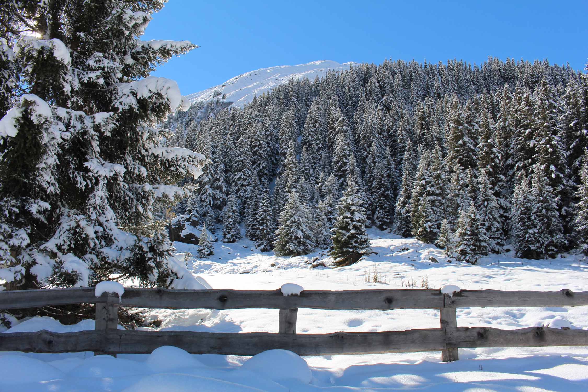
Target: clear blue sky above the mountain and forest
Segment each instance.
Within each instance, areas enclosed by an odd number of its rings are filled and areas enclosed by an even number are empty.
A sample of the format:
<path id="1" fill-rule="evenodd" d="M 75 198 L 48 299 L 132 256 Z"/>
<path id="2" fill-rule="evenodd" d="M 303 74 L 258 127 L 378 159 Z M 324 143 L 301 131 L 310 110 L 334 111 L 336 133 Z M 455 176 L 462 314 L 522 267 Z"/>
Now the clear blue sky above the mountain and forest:
<path id="1" fill-rule="evenodd" d="M 258 68 L 316 60 L 543 59 L 583 69 L 588 1 L 171 0 L 143 39 L 200 48 L 154 73 L 183 94 Z"/>

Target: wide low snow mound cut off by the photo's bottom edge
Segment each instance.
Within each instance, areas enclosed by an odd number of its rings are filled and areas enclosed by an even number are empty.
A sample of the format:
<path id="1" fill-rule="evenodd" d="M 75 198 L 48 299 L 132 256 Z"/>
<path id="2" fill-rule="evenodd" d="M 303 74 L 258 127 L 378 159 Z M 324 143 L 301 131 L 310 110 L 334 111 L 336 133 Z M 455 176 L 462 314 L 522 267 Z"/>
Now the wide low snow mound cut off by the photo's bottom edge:
<path id="1" fill-rule="evenodd" d="M 125 388 L 122 392 L 194 392 L 194 391 L 227 391 L 227 392 L 264 392 L 262 389 L 216 380 L 215 378 L 192 376 L 179 373 L 162 373 L 145 377 L 138 383 Z"/>

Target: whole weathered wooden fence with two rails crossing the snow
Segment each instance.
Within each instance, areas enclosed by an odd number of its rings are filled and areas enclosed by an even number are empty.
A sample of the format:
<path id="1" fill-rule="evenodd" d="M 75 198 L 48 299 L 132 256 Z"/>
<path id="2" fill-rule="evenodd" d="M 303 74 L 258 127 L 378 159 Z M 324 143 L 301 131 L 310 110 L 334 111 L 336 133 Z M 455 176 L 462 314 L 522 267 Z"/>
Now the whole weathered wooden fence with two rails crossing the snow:
<path id="1" fill-rule="evenodd" d="M 95 354 L 148 354 L 160 346 L 176 346 L 193 354 L 252 356 L 265 350 L 290 350 L 300 356 L 442 351 L 454 361 L 458 347 L 588 346 L 588 330 L 529 327 L 502 330 L 457 327 L 457 307 L 588 306 L 588 292 L 461 290 L 303 290 L 283 296 L 278 290 L 169 290 L 126 288 L 95 296 L 93 288 L 0 292 L 0 309 L 46 305 L 96 304 L 93 331 L 0 333 L 0 351 Z M 208 333 L 191 331 L 118 330 L 118 307 L 165 309 L 279 309 L 278 333 Z M 328 310 L 439 309 L 440 328 L 383 332 L 296 334 L 300 307 Z"/>

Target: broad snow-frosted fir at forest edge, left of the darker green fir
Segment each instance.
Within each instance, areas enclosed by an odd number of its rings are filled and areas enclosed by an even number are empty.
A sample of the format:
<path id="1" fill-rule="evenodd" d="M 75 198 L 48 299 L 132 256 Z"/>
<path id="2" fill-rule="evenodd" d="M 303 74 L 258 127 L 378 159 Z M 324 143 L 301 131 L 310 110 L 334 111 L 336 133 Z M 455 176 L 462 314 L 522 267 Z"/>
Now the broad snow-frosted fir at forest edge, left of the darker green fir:
<path id="1" fill-rule="evenodd" d="M 314 248 L 308 210 L 298 193 L 290 192 L 275 234 L 273 246 L 278 256 L 300 256 Z"/>

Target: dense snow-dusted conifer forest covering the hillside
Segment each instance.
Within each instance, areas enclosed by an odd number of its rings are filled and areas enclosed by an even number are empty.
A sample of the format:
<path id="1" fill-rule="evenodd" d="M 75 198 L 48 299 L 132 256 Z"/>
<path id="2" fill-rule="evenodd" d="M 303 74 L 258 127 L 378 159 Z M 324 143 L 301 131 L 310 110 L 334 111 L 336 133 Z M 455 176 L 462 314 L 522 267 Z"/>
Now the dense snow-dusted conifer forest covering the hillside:
<path id="1" fill-rule="evenodd" d="M 587 105 L 588 76 L 547 61 L 384 61 L 290 80 L 243 109 L 169 118 L 172 145 L 209 159 L 177 212 L 225 242 L 244 222 L 278 254 L 328 249 L 341 231 L 360 244 L 371 225 L 472 263 L 505 247 L 586 250 Z"/>

